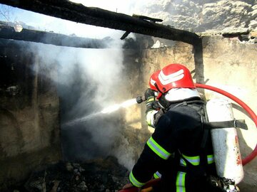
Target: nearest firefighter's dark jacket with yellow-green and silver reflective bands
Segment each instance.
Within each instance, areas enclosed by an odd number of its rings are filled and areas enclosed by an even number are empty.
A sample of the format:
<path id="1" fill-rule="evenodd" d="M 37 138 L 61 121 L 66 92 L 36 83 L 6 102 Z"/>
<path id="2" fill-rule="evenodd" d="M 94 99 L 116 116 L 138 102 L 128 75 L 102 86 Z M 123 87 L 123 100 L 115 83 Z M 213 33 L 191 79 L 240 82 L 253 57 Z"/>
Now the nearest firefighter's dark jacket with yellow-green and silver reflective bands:
<path id="1" fill-rule="evenodd" d="M 129 179 L 134 186 L 143 186 L 161 171 L 162 191 L 201 191 L 206 174 L 216 174 L 209 132 L 202 146 L 204 114 L 196 110 L 200 104 L 176 105 L 160 117 L 133 166 Z"/>

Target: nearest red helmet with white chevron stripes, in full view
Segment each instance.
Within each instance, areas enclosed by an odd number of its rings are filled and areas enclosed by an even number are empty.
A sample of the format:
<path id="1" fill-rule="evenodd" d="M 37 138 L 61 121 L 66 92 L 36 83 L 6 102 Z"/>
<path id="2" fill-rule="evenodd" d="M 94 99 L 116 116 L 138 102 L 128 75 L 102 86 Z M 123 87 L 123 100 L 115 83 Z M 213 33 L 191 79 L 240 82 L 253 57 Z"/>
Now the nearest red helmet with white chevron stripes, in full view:
<path id="1" fill-rule="evenodd" d="M 164 67 L 158 74 L 156 85 L 161 97 L 162 93 L 173 88 L 196 88 L 190 71 L 184 65 L 173 63 Z"/>

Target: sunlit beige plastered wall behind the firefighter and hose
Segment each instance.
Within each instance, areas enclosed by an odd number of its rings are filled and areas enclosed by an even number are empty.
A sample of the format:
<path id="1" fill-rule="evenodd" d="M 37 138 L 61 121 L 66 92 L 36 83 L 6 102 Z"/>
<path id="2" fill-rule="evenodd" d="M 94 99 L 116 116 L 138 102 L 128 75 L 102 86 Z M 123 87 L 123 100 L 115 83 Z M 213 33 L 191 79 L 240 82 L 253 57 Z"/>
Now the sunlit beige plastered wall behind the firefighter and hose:
<path id="1" fill-rule="evenodd" d="M 254 112 L 257 112 L 257 44 L 241 43 L 238 41 L 238 38 L 206 36 L 203 37 L 203 62 L 196 64 L 193 47 L 185 43 L 173 43 L 171 47 L 158 49 L 146 48 L 141 53 L 142 58 L 139 62 L 142 65 L 139 81 L 143 83 L 139 87 L 138 92 L 143 93 L 146 90 L 150 75 L 154 71 L 163 68 L 169 63 L 182 63 L 193 72 L 194 80 L 196 80 L 196 77 L 201 76 L 207 85 L 213 85 L 230 92 L 240 100 L 243 100 Z M 201 60 L 201 58 L 196 58 L 196 60 Z M 207 100 L 213 97 L 223 97 L 209 90 L 199 89 L 199 91 L 205 94 L 204 96 Z M 134 109 L 133 112 L 138 111 L 140 114 L 133 113 L 127 119 L 129 122 L 132 122 L 133 119 L 136 119 L 137 115 L 141 115 L 143 117 L 141 126 L 137 124 L 134 128 L 146 129 L 144 119 L 145 105 L 141 104 L 135 107 L 136 110 Z M 256 126 L 246 112 L 236 103 L 233 105 L 233 112 L 237 119 L 246 119 L 248 124 L 247 131 L 238 129 L 241 156 L 245 158 L 256 146 Z M 152 131 L 151 129 L 148 130 Z M 245 177 L 239 185 L 241 191 L 255 191 L 257 159 L 244 166 L 244 172 Z"/>

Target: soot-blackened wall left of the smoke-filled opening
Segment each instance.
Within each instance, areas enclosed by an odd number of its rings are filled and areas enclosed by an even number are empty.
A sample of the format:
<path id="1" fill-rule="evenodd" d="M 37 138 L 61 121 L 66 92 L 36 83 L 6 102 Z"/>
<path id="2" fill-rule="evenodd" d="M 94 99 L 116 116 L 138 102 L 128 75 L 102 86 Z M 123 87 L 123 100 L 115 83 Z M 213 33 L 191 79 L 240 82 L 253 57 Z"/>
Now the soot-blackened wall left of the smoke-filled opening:
<path id="1" fill-rule="evenodd" d="M 28 43 L 0 40 L 0 188 L 61 159 L 59 97 Z M 49 68 L 51 73 L 53 68 Z"/>

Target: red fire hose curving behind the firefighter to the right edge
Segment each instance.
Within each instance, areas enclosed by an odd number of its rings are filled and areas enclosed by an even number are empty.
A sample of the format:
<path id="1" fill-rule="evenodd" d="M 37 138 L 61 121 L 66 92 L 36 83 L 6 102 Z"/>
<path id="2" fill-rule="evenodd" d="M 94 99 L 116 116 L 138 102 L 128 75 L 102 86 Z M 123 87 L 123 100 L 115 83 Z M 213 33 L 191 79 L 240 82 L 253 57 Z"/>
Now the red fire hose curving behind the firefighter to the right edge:
<path id="1" fill-rule="evenodd" d="M 241 105 L 241 107 L 243 107 L 243 109 L 246 110 L 246 112 L 251 116 L 251 119 L 253 120 L 253 122 L 256 124 L 256 127 L 257 127 L 257 116 L 256 116 L 256 114 L 253 112 L 253 110 L 251 110 L 250 107 L 248 107 L 248 105 L 246 105 L 246 103 L 239 100 L 238 97 L 235 97 L 234 95 L 231 95 L 230 93 L 228 93 L 224 90 L 218 89 L 217 87 L 213 87 L 213 86 L 210 86 L 210 85 L 203 85 L 203 84 L 199 84 L 199 83 L 196 83 L 195 85 L 198 88 L 203 88 L 203 89 L 207 89 L 207 90 L 212 90 L 214 92 L 218 92 L 221 95 L 225 95 L 226 97 L 230 98 L 234 102 L 237 102 L 238 105 Z M 251 160 L 253 160 L 256 157 L 256 155 L 257 155 L 257 144 L 256 144 L 255 149 L 253 149 L 253 151 L 251 152 L 251 154 L 246 156 L 245 159 L 242 159 L 242 164 L 243 165 L 248 164 Z"/>

